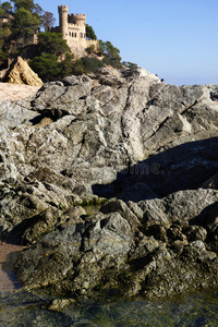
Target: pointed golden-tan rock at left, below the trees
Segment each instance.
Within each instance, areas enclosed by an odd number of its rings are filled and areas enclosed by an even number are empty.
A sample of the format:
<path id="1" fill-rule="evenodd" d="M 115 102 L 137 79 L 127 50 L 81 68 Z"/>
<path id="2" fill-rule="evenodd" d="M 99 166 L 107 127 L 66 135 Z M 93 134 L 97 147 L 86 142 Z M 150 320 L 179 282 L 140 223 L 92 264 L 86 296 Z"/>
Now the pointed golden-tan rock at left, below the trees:
<path id="1" fill-rule="evenodd" d="M 4 82 L 41 86 L 44 83 L 21 57 L 12 64 L 4 76 Z"/>

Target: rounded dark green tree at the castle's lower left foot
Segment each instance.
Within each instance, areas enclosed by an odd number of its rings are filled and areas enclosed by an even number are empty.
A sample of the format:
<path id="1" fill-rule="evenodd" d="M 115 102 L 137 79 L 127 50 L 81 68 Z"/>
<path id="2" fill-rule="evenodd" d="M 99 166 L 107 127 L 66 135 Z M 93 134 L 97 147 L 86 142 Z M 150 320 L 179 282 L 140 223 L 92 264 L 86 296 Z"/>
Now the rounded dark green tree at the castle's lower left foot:
<path id="1" fill-rule="evenodd" d="M 70 48 L 62 33 L 46 32 L 38 34 L 38 52 L 61 56 L 70 52 Z"/>

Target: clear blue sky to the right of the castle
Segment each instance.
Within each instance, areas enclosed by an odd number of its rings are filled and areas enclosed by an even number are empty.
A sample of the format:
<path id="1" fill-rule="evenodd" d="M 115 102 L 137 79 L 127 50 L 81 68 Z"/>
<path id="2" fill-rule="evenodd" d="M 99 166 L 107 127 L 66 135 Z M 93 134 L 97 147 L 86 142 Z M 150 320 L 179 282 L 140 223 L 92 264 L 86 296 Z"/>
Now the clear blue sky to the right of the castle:
<path id="1" fill-rule="evenodd" d="M 35 0 L 85 13 L 98 39 L 170 84 L 218 84 L 218 0 Z"/>

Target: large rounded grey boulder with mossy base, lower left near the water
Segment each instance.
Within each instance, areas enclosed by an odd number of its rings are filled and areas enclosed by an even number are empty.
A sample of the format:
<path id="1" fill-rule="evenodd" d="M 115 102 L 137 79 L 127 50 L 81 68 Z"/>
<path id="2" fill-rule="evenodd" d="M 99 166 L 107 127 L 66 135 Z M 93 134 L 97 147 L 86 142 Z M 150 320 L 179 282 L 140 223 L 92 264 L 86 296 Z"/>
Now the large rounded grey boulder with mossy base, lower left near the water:
<path id="1" fill-rule="evenodd" d="M 23 252 L 17 277 L 31 287 L 53 284 L 58 292 L 66 287 L 72 292 L 92 290 L 107 276 L 107 268 L 123 262 L 132 240 L 130 225 L 120 214 L 98 214 L 89 221 L 81 220 L 43 237 Z"/>

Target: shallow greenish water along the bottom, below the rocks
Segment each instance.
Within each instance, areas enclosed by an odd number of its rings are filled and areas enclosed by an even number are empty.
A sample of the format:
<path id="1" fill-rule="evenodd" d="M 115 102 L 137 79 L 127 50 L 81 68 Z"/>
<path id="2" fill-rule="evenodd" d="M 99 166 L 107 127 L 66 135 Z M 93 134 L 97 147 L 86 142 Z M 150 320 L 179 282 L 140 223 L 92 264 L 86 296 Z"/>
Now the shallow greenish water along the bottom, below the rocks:
<path id="1" fill-rule="evenodd" d="M 52 299 L 24 291 L 0 293 L 0 326 L 218 326 L 218 293 L 177 302 L 86 301 L 62 312 L 49 311 Z"/>

